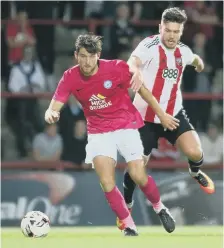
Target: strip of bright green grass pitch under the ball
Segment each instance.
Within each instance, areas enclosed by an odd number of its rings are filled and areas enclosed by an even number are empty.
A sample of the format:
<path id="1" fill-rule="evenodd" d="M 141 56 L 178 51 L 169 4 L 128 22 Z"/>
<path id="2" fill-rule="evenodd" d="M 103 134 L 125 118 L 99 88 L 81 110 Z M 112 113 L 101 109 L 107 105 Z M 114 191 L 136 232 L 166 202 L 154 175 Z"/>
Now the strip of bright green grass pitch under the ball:
<path id="1" fill-rule="evenodd" d="M 223 228 L 139 226 L 138 237 L 124 237 L 116 227 L 52 227 L 45 238 L 26 238 L 19 228 L 2 228 L 2 248 L 221 248 Z"/>

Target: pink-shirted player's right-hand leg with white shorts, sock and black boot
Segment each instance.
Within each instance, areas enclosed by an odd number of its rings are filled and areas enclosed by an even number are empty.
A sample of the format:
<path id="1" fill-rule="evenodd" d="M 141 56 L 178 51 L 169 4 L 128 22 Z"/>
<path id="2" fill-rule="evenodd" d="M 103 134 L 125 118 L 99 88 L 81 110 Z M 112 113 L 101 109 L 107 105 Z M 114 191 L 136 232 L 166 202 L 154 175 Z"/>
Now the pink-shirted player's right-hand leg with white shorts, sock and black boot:
<path id="1" fill-rule="evenodd" d="M 168 209 L 161 202 L 159 189 L 155 180 L 147 175 L 142 157 L 143 146 L 139 132 L 137 130 L 123 131 L 123 139 L 118 143 L 118 148 L 128 163 L 130 177 L 151 202 L 153 209 L 158 214 L 166 231 L 173 232 L 175 229 L 175 221 Z M 125 139 L 125 137 L 128 137 L 128 139 Z"/>

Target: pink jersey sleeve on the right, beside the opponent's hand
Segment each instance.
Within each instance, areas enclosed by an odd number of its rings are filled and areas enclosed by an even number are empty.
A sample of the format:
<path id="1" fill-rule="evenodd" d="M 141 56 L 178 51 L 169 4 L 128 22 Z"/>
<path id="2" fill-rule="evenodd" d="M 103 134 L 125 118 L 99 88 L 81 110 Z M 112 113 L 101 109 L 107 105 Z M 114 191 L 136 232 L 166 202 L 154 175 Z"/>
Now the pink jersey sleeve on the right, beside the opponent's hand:
<path id="1" fill-rule="evenodd" d="M 130 88 L 131 72 L 129 70 L 128 64 L 123 60 L 117 61 L 118 73 L 121 75 L 121 85 L 124 88 Z"/>

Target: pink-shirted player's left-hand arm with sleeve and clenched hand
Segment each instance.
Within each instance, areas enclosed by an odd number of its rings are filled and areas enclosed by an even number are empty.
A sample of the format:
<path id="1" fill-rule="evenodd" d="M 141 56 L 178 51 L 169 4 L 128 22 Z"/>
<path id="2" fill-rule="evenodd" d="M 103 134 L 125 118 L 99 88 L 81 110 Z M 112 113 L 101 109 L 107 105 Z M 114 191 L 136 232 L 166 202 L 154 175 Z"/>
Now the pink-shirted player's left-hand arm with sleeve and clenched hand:
<path id="1" fill-rule="evenodd" d="M 45 112 L 45 121 L 49 124 L 55 123 L 60 118 L 60 111 L 70 96 L 68 87 L 68 73 L 65 72 L 54 93 L 48 109 Z"/>

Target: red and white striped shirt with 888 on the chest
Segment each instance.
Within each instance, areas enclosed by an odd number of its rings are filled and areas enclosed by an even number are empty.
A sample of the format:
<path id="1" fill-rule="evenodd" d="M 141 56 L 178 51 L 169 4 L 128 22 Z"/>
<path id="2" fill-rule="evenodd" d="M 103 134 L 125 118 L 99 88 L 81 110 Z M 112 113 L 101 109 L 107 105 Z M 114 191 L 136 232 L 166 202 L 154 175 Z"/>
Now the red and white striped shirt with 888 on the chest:
<path id="1" fill-rule="evenodd" d="M 141 41 L 132 56 L 137 56 L 142 61 L 146 87 L 157 99 L 160 107 L 175 116 L 182 108 L 180 85 L 184 68 L 194 60 L 191 49 L 181 42 L 176 48 L 167 49 L 162 44 L 160 35 L 154 35 Z M 139 94 L 135 96 L 134 105 L 145 121 L 160 123 L 159 118 Z"/>

